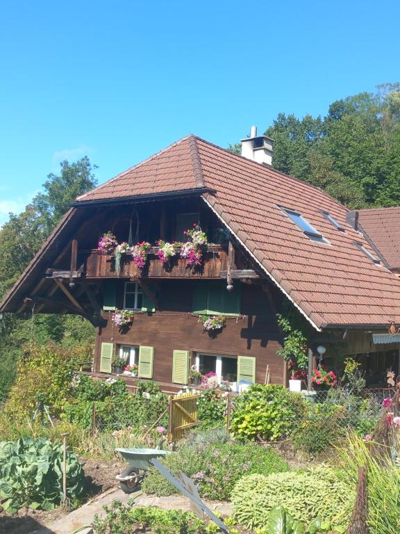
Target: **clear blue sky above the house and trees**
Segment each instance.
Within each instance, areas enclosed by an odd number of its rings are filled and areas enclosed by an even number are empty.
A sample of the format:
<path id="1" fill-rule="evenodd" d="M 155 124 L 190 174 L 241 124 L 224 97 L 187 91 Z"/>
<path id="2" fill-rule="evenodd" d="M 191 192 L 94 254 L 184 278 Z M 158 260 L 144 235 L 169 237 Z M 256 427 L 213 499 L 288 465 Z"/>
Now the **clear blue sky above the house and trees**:
<path id="1" fill-rule="evenodd" d="M 226 147 L 276 115 L 399 81 L 397 0 L 0 3 L 0 224 L 62 159 L 99 182 L 195 133 Z"/>

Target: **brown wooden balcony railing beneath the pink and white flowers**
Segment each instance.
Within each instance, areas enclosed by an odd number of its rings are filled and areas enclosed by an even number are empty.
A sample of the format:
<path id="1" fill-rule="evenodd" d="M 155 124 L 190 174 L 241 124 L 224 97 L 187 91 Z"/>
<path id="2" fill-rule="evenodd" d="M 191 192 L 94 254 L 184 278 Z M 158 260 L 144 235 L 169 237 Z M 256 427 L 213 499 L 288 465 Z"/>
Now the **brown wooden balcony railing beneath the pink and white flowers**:
<path id="1" fill-rule="evenodd" d="M 131 254 L 124 254 L 119 276 L 115 270 L 115 257 L 91 250 L 86 257 L 84 271 L 86 278 L 220 278 L 221 271 L 228 268 L 228 245 L 207 245 L 201 267 L 188 266 L 188 260 L 178 256 L 163 264 L 157 256 L 158 248 L 149 250 L 146 266 L 142 270 L 132 261 Z M 83 251 L 81 251 L 83 252 Z"/>

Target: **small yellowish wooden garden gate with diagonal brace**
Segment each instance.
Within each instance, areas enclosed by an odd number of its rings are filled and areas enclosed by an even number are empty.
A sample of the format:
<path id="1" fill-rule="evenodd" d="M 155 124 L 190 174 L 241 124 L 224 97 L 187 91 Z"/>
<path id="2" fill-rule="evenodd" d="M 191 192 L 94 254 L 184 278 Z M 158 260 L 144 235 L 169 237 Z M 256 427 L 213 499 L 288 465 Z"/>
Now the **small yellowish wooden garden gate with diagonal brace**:
<path id="1" fill-rule="evenodd" d="M 190 428 L 197 426 L 197 401 L 200 394 L 188 393 L 169 397 L 169 442 L 177 442 Z"/>

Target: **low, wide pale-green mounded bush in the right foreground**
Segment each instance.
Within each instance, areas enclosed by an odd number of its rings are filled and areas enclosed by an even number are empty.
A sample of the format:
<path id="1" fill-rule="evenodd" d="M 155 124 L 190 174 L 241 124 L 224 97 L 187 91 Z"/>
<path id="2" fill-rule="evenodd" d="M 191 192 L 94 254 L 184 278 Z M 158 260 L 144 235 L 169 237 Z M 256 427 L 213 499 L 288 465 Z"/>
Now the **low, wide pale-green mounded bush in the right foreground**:
<path id="1" fill-rule="evenodd" d="M 315 517 L 347 524 L 354 502 L 353 491 L 326 467 L 247 475 L 235 484 L 231 497 L 233 516 L 248 528 L 265 527 L 269 512 L 279 505 L 307 524 Z"/>

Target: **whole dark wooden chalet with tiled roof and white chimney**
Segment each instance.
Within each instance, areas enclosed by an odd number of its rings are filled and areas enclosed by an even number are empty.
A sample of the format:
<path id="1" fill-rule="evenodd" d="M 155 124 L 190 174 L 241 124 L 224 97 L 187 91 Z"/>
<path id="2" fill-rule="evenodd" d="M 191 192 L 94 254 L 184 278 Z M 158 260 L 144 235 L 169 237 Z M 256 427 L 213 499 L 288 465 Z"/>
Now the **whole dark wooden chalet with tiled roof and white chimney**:
<path id="1" fill-rule="evenodd" d="M 398 373 L 400 338 L 387 327 L 400 323 L 399 278 L 357 212 L 274 170 L 271 157 L 272 140 L 254 129 L 242 155 L 188 136 L 81 195 L 0 311 L 80 314 L 97 328 L 94 375 L 113 373 L 122 355 L 138 379 L 176 391 L 192 366 L 233 384 L 286 384 L 276 313 L 290 301 L 308 321 L 310 369 L 319 344 L 333 361 L 340 343 L 376 380 L 387 366 Z M 158 240 L 185 241 L 193 225 L 208 238 L 201 265 L 160 261 Z M 98 250 L 106 232 L 151 243 L 144 266 L 124 254 L 118 270 Z M 121 309 L 132 320 L 118 327 Z M 224 327 L 204 330 L 204 316 L 224 316 Z"/>

